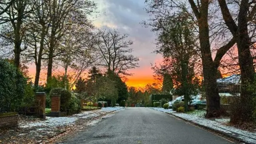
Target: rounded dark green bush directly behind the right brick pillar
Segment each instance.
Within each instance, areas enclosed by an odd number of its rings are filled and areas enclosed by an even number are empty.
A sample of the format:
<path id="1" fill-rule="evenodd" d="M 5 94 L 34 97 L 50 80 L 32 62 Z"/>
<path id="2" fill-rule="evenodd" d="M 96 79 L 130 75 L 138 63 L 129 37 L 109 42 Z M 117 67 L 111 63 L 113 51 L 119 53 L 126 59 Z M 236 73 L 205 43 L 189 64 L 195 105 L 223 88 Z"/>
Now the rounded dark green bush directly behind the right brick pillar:
<path id="1" fill-rule="evenodd" d="M 66 112 L 71 100 L 71 93 L 63 88 L 53 88 L 50 92 L 50 98 L 52 97 L 52 94 L 60 94 L 60 111 Z"/>

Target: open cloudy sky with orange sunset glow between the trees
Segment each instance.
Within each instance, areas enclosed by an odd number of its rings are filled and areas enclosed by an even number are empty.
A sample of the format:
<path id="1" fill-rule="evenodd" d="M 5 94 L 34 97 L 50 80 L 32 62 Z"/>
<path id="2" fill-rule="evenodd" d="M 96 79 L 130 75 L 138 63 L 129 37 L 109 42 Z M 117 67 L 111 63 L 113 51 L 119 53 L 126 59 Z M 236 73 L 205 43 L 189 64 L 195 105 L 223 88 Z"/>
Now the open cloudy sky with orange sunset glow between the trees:
<path id="1" fill-rule="evenodd" d="M 159 54 L 152 53 L 155 35 L 150 28 L 144 28 L 140 24 L 142 20 L 149 18 L 143 10 L 144 0 L 95 0 L 98 3 L 98 14 L 94 15 L 93 23 L 98 28 L 116 28 L 121 33 L 129 34 L 129 39 L 134 42 L 132 54 L 140 59 L 139 68 L 128 72 L 134 73 L 128 76 L 128 86 L 144 86 L 154 82 L 151 64 L 162 60 Z"/>

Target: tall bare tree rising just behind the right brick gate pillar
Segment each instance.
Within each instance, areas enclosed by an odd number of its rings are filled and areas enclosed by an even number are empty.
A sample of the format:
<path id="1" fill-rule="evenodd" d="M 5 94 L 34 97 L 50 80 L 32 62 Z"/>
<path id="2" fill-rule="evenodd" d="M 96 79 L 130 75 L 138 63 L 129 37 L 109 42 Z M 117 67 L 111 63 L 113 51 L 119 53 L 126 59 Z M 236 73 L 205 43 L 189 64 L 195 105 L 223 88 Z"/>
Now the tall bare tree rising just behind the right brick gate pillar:
<path id="1" fill-rule="evenodd" d="M 83 18 L 95 8 L 96 4 L 91 0 L 50 0 L 47 2 L 50 17 L 50 34 L 46 39 L 48 44 L 47 81 L 52 76 L 53 58 L 62 53 L 58 45 L 64 36 L 66 24 L 69 20 L 75 22 Z"/>

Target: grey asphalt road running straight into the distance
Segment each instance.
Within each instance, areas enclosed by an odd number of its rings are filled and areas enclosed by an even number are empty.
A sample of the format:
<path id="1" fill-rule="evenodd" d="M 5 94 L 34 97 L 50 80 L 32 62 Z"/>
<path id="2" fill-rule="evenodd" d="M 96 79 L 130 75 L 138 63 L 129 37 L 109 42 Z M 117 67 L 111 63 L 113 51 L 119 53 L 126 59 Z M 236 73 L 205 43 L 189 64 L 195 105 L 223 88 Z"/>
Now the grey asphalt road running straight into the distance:
<path id="1" fill-rule="evenodd" d="M 150 108 L 126 108 L 64 144 L 231 144 L 206 130 Z"/>

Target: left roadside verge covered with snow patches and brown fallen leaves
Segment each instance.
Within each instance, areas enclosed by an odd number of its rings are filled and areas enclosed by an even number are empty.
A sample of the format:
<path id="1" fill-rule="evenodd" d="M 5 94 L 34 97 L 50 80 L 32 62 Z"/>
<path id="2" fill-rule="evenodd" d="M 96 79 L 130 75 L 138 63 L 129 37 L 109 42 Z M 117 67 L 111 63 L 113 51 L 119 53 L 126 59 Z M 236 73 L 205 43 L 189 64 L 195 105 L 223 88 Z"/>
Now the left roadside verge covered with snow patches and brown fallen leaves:
<path id="1" fill-rule="evenodd" d="M 82 111 L 72 116 L 46 116 L 46 120 L 23 116 L 19 120 L 18 128 L 0 130 L 0 144 L 51 143 L 48 141 L 49 138 L 95 125 L 100 122 L 101 118 L 113 116 L 114 111 L 122 109 L 123 107 L 107 107 L 100 110 Z"/>

